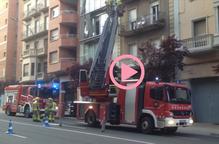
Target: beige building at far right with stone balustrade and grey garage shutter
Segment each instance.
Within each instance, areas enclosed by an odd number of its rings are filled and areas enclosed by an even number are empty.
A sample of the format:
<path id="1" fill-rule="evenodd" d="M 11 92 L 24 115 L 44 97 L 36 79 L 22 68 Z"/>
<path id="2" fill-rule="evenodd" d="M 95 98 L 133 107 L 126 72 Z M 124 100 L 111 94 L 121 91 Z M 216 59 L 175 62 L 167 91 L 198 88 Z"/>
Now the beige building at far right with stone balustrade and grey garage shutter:
<path id="1" fill-rule="evenodd" d="M 218 123 L 219 0 L 174 0 L 175 33 L 188 48 L 179 78 L 192 90 L 194 116 L 199 122 Z"/>

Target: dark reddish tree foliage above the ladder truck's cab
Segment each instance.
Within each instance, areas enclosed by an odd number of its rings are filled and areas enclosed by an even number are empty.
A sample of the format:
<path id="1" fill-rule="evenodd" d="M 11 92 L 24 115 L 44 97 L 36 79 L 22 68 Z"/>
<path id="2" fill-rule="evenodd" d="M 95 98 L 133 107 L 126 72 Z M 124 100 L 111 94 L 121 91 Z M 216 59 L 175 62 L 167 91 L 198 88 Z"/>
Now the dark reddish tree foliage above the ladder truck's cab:
<path id="1" fill-rule="evenodd" d="M 158 76 L 166 82 L 175 79 L 177 70 L 183 70 L 183 58 L 188 54 L 187 48 L 175 36 L 162 40 L 159 48 L 146 41 L 139 51 L 145 65 L 145 79 L 154 80 Z"/>

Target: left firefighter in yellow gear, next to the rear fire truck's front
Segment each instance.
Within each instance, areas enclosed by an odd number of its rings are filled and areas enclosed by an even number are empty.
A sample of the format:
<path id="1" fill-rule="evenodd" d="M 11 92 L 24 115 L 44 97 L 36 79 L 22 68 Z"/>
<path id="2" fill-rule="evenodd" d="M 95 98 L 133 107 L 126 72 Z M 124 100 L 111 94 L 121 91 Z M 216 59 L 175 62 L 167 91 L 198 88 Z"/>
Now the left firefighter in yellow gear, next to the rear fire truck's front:
<path id="1" fill-rule="evenodd" d="M 40 104 L 39 97 L 33 99 L 33 121 L 40 122 Z"/>

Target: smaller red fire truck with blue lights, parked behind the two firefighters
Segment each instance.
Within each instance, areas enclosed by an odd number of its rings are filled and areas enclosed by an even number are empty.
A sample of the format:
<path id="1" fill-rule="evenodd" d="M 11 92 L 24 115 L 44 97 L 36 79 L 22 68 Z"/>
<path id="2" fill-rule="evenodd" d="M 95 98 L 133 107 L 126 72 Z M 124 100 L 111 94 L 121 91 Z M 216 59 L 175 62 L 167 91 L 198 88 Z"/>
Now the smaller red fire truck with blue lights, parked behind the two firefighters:
<path id="1" fill-rule="evenodd" d="M 43 113 L 46 99 L 54 96 L 49 86 L 41 86 L 40 88 L 37 88 L 37 86 L 34 85 L 7 86 L 5 87 L 3 110 L 9 116 L 15 116 L 16 113 L 22 113 L 26 118 L 29 118 L 32 115 L 32 103 L 33 98 L 36 97 L 36 95 L 40 98 L 40 111 Z"/>

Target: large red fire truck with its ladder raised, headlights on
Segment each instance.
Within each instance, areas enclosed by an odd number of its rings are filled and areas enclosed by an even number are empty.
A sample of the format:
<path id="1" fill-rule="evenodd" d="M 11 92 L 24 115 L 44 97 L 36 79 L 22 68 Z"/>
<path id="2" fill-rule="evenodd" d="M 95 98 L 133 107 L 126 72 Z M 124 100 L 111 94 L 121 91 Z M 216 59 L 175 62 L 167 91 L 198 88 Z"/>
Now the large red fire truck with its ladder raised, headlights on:
<path id="1" fill-rule="evenodd" d="M 86 70 L 80 72 L 81 97 L 75 101 L 77 118 L 85 120 L 88 125 L 102 121 L 113 125 L 135 125 L 144 133 L 150 133 L 156 128 L 173 133 L 180 126 L 191 126 L 192 107 L 190 91 L 186 86 L 145 81 L 134 89 L 119 89 L 117 93 L 111 85 L 108 70 L 118 17 L 122 15 L 119 8 L 115 3 L 107 8 L 108 18 L 89 75 Z M 123 82 L 123 85 L 133 82 L 129 80 Z"/>

